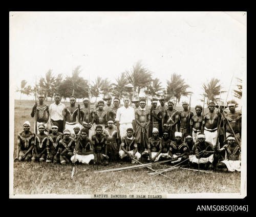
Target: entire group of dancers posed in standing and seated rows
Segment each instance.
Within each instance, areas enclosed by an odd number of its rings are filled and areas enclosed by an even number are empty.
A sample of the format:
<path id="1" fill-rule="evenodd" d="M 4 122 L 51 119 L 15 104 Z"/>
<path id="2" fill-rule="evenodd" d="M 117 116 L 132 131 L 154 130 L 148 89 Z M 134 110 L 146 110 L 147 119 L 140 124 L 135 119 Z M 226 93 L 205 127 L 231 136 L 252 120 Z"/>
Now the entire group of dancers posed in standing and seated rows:
<path id="1" fill-rule="evenodd" d="M 187 102 L 177 111 L 172 101 L 165 105 L 164 97 L 153 98 L 151 106 L 146 98 L 124 97 L 120 107 L 118 97 L 112 105 L 112 96 L 106 95 L 95 108 L 87 97 L 82 108 L 76 106 L 75 96 L 69 106 L 60 102 L 57 93 L 54 100 L 48 106 L 44 94 L 38 95 L 39 104 L 31 112 L 36 133 L 30 131 L 28 121 L 23 124 L 15 160 L 107 165 L 124 159 L 134 164 L 143 157 L 150 162 L 241 170 L 242 115 L 233 103 L 210 102 L 203 115 L 203 107 L 197 105 L 194 115 Z M 224 111 L 227 107 L 229 112 Z"/>

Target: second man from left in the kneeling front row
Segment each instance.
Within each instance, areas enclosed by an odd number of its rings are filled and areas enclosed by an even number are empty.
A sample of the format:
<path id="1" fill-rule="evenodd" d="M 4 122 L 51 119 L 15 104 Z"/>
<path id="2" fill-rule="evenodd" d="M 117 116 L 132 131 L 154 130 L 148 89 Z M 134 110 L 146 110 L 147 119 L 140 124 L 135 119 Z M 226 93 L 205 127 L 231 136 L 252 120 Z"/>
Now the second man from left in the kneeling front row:
<path id="1" fill-rule="evenodd" d="M 34 153 L 31 161 L 42 162 L 46 160 L 46 143 L 47 134 L 45 133 L 45 125 L 39 124 L 39 134 L 35 136 Z"/>

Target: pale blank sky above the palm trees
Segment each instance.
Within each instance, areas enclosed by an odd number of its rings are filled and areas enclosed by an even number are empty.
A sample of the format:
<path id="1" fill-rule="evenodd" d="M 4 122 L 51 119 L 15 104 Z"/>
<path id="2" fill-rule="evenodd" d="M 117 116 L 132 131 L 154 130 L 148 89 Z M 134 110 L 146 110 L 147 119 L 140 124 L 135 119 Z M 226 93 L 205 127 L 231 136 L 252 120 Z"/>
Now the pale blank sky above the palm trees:
<path id="1" fill-rule="evenodd" d="M 97 76 L 112 82 L 141 61 L 163 87 L 181 74 L 202 104 L 202 83 L 221 80 L 222 90 L 246 90 L 246 12 L 10 12 L 10 95 L 22 80 L 34 85 L 49 69 L 57 75 Z M 231 82 L 231 78 L 232 83 Z M 244 93 L 243 93 L 244 94 Z M 225 102 L 227 93 L 221 95 Z M 245 96 L 245 95 L 244 95 Z M 33 96 L 22 96 L 32 99 Z M 182 97 L 181 101 L 189 101 Z"/>

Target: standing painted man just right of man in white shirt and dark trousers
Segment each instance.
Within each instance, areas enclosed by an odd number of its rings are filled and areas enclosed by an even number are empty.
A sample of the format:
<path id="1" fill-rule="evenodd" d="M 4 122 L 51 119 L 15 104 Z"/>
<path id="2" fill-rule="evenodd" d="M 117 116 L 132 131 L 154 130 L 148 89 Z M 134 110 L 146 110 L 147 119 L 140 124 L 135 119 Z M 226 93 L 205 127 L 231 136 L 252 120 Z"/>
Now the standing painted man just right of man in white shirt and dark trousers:
<path id="1" fill-rule="evenodd" d="M 76 123 L 76 117 L 78 117 L 78 107 L 76 104 L 76 97 L 69 97 L 70 106 L 65 107 L 64 109 L 64 121 L 65 129 L 69 130 L 70 133 L 74 132 L 75 127 L 79 127 L 79 123 Z"/>

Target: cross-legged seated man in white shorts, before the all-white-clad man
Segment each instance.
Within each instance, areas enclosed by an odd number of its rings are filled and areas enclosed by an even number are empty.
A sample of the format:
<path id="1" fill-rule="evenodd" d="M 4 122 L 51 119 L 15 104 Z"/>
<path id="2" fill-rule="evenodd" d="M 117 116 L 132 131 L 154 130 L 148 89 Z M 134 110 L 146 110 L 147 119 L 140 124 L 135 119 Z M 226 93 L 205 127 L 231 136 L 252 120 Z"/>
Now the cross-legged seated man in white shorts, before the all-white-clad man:
<path id="1" fill-rule="evenodd" d="M 136 137 L 133 136 L 133 128 L 128 128 L 126 130 L 126 135 L 122 137 L 121 150 L 119 151 L 119 156 L 123 159 L 125 156 L 129 156 L 130 159 L 140 160 L 141 154 L 138 152 L 138 145 Z M 136 161 L 132 160 L 132 164 Z"/>

